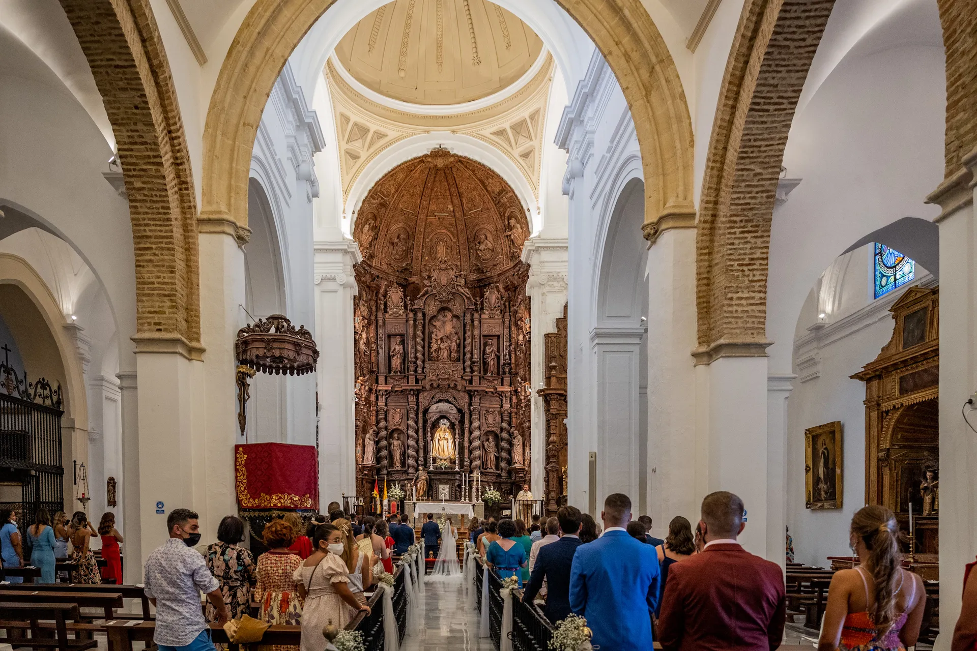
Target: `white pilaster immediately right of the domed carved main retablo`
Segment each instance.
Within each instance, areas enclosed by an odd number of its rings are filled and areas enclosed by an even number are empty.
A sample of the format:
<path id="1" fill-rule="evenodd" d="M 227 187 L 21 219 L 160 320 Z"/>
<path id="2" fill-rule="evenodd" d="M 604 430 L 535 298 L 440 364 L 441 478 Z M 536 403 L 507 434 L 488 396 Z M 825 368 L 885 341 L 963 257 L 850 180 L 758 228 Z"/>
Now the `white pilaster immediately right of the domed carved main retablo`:
<path id="1" fill-rule="evenodd" d="M 531 432 L 530 489 L 541 498 L 545 481 L 546 417 L 536 391 L 546 378 L 545 335 L 556 332 L 556 319 L 567 303 L 567 239 L 534 238 L 523 246 L 523 262 L 530 265 L 526 293 L 531 300 Z M 524 439 L 528 432 L 520 432 Z"/>

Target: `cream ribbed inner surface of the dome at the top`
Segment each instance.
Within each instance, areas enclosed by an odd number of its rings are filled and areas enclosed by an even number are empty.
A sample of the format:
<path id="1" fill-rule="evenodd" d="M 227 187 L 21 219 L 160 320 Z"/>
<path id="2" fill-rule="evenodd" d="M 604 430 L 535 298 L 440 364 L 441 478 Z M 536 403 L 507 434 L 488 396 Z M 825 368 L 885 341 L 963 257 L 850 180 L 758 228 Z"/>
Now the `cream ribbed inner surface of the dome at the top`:
<path id="1" fill-rule="evenodd" d="M 396 0 L 360 20 L 336 57 L 385 97 L 455 104 L 516 82 L 542 45 L 525 22 L 488 0 Z"/>

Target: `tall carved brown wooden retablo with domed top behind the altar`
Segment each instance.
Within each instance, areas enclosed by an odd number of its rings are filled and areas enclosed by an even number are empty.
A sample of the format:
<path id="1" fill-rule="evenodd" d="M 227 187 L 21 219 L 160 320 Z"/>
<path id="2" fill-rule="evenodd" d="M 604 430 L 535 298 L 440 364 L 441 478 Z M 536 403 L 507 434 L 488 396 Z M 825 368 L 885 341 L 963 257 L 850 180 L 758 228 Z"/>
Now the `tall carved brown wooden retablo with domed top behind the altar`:
<path id="1" fill-rule="evenodd" d="M 370 189 L 354 225 L 359 494 L 379 476 L 408 498 L 447 484 L 451 500 L 463 474 L 504 496 L 524 480 L 529 232 L 512 188 L 446 149 Z"/>

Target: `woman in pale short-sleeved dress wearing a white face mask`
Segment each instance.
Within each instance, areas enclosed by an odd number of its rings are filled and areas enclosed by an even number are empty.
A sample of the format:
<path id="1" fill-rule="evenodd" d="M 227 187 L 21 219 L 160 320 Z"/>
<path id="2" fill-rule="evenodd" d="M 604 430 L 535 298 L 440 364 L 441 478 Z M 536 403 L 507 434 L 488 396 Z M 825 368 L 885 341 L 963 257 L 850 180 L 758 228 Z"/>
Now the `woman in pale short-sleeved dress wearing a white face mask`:
<path id="1" fill-rule="evenodd" d="M 350 590 L 350 575 L 343 562 L 347 546 L 343 530 L 334 524 L 320 524 L 313 534 L 313 552 L 295 570 L 292 579 L 305 599 L 302 609 L 301 651 L 323 651 L 322 628 L 330 621 L 344 629 L 360 611 L 370 609 Z"/>

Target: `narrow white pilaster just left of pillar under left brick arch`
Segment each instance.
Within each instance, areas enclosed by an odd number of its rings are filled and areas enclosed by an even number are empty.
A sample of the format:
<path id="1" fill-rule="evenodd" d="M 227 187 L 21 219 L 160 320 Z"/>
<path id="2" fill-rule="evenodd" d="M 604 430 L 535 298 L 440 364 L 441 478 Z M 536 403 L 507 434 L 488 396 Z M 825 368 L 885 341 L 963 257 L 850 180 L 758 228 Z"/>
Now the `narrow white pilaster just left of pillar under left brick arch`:
<path id="1" fill-rule="evenodd" d="M 119 371 L 119 407 L 122 412 L 122 476 L 118 484 L 119 510 L 126 525 L 123 581 L 143 583 L 142 512 L 139 490 L 139 398 L 135 371 Z"/>

